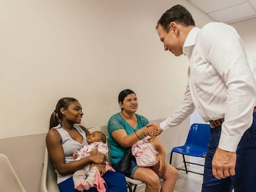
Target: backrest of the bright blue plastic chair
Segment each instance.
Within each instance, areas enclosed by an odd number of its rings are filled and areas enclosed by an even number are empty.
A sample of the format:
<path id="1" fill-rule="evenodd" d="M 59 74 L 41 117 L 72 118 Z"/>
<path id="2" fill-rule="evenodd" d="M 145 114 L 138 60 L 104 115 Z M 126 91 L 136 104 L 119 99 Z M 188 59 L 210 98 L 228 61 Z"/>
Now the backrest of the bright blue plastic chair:
<path id="1" fill-rule="evenodd" d="M 207 149 L 210 136 L 211 133 L 209 124 L 194 123 L 189 128 L 186 145 Z"/>

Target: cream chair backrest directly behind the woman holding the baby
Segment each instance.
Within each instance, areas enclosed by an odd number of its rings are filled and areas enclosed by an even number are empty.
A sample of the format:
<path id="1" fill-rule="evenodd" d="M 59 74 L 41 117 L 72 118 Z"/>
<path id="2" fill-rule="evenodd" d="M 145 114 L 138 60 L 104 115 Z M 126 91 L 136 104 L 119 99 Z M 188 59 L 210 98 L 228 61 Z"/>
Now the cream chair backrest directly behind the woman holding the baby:
<path id="1" fill-rule="evenodd" d="M 45 149 L 45 159 L 43 161 L 40 192 L 59 192 L 56 173 L 54 172 L 54 167 L 49 160 L 47 148 Z"/>

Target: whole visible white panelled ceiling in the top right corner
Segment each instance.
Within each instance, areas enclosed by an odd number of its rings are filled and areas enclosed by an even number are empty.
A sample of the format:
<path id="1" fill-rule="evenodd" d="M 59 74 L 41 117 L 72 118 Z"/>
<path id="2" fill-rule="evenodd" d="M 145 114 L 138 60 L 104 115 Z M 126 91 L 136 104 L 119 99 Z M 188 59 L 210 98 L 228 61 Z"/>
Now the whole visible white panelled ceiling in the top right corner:
<path id="1" fill-rule="evenodd" d="M 217 22 L 233 23 L 256 17 L 256 0 L 189 0 Z"/>

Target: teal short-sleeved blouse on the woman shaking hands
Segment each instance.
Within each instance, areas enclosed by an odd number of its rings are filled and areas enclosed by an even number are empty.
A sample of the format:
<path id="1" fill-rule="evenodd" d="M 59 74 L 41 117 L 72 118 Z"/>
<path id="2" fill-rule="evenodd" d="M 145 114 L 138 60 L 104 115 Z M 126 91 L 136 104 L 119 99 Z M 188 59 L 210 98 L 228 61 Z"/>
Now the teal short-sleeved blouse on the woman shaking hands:
<path id="1" fill-rule="evenodd" d="M 110 160 L 112 164 L 118 164 L 124 157 L 124 152 L 126 148 L 122 147 L 121 144 L 117 143 L 116 140 L 111 136 L 111 133 L 116 130 L 124 129 L 126 130 L 127 135 L 131 135 L 137 130 L 140 130 L 142 127 L 145 127 L 149 122 L 148 119 L 142 115 L 135 114 L 137 117 L 137 127 L 132 128 L 129 123 L 122 118 L 121 114 L 118 112 L 110 117 L 108 121 L 108 145 L 110 151 Z"/>

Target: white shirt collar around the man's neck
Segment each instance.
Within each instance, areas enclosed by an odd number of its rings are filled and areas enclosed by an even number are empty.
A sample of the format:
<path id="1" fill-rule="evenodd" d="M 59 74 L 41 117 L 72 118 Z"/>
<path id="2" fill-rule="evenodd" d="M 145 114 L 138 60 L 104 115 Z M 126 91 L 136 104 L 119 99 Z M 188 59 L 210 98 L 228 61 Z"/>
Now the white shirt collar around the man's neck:
<path id="1" fill-rule="evenodd" d="M 184 42 L 183 45 L 183 52 L 186 56 L 189 55 L 190 49 L 192 48 L 192 46 L 195 45 L 195 41 L 197 40 L 197 35 L 200 31 L 200 28 L 198 27 L 194 27 L 192 28 L 192 30 L 189 31 L 189 34 L 187 35 L 187 38 Z"/>

